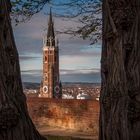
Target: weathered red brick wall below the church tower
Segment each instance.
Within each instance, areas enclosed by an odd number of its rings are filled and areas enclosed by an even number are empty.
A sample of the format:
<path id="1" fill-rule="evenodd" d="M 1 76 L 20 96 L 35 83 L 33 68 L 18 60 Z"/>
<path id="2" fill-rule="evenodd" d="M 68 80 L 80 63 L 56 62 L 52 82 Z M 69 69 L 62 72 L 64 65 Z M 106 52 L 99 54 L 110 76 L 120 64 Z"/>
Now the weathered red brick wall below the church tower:
<path id="1" fill-rule="evenodd" d="M 37 126 L 52 126 L 98 133 L 99 102 L 28 98 L 29 114 Z"/>

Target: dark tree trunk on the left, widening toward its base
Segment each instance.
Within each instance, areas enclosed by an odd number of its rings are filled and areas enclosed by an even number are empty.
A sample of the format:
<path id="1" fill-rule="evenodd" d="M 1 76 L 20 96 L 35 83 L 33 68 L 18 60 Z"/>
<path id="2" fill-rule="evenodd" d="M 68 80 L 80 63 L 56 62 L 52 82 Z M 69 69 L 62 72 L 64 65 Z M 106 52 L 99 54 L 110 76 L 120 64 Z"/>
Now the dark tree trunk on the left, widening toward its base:
<path id="1" fill-rule="evenodd" d="M 27 111 L 9 0 L 0 0 L 0 140 L 43 140 Z"/>

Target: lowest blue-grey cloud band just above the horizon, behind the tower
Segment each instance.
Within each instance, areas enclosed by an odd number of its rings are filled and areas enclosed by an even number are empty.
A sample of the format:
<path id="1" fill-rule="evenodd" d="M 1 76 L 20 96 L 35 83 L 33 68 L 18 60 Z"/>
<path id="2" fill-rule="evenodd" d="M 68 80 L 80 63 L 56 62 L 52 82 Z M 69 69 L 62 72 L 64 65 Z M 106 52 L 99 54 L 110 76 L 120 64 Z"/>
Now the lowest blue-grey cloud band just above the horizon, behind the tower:
<path id="1" fill-rule="evenodd" d="M 100 72 L 83 72 L 84 70 L 62 70 L 60 79 L 62 82 L 88 82 L 88 83 L 100 83 Z M 40 83 L 42 75 L 40 70 L 36 71 L 24 71 L 22 72 L 23 82 L 37 82 Z M 64 73 L 66 72 L 66 73 Z"/>

